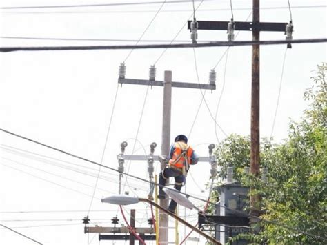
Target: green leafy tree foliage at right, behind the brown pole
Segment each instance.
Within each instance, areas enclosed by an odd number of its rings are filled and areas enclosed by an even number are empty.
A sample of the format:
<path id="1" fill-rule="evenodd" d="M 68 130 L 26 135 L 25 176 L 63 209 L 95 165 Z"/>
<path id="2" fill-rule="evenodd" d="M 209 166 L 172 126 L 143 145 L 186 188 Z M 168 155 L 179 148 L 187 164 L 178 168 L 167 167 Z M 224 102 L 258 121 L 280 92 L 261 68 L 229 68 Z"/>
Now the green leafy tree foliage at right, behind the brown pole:
<path id="1" fill-rule="evenodd" d="M 272 145 L 261 140 L 261 166 L 269 169 L 269 182 L 245 178 L 250 166 L 250 139 L 230 135 L 219 145 L 219 178 L 227 166 L 235 169 L 235 180 L 252 186 L 261 195 L 261 216 L 293 230 L 262 222 L 258 235 L 268 244 L 327 244 L 327 86 L 326 63 L 318 66 L 313 86 L 304 92 L 309 101 L 301 121 L 290 121 L 288 139 Z M 308 235 L 308 233 L 310 235 Z M 249 235 L 243 235 L 249 237 Z"/>

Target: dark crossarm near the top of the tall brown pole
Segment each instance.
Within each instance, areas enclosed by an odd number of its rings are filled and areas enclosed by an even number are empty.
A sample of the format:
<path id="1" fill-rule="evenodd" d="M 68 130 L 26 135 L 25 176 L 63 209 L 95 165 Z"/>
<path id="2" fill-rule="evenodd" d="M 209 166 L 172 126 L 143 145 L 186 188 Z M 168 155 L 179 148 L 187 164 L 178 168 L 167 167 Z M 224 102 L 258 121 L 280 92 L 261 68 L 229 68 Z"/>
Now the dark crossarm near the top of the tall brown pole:
<path id="1" fill-rule="evenodd" d="M 192 21 L 188 21 L 188 29 Z M 227 30 L 228 21 L 197 21 L 198 30 Z M 268 32 L 285 32 L 287 23 L 276 22 L 242 22 L 235 21 L 235 30 L 259 30 Z"/>

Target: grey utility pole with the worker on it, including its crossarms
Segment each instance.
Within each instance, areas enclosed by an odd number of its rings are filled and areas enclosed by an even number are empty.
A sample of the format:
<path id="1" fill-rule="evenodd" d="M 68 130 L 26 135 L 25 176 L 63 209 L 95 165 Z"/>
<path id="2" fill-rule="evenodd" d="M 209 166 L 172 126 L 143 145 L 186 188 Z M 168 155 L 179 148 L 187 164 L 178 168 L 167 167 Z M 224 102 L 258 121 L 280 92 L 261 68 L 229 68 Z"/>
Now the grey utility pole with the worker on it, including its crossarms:
<path id="1" fill-rule="evenodd" d="M 185 82 L 175 82 L 172 81 L 172 72 L 164 72 L 164 81 L 156 81 L 155 66 L 150 66 L 149 79 L 126 79 L 126 66 L 121 63 L 119 66 L 119 79 L 118 83 L 123 84 L 136 84 L 136 85 L 146 85 L 146 86 L 164 86 L 164 103 L 163 103 L 163 119 L 162 119 L 162 137 L 161 137 L 161 156 L 168 157 L 169 146 L 170 146 L 170 124 L 171 124 L 171 107 L 172 107 L 172 87 L 177 88 L 197 88 L 203 90 L 215 90 L 216 85 L 214 79 L 210 80 L 210 84 L 195 84 L 195 83 L 185 83 Z M 215 77 L 215 76 L 214 76 Z M 137 159 L 143 160 L 146 157 L 142 156 L 125 156 L 126 159 Z M 154 160 L 159 159 L 159 157 L 153 156 Z M 159 159 L 161 161 L 161 170 L 166 168 L 166 159 Z M 208 157 L 202 157 L 199 161 L 209 161 Z M 168 183 L 166 183 L 168 184 Z M 161 199 L 159 202 L 162 208 L 168 208 L 168 199 Z M 162 211 L 159 212 L 159 244 L 168 244 L 168 215 Z"/>

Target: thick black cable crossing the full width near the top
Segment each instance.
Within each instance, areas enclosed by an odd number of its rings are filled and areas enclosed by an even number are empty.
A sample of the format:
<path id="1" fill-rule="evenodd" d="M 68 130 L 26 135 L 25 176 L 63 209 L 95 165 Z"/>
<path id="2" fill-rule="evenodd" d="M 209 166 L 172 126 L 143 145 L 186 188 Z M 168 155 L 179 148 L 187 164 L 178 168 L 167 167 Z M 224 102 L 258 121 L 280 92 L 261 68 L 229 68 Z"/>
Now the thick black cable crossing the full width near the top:
<path id="1" fill-rule="evenodd" d="M 118 49 L 148 49 L 148 48 L 209 48 L 226 46 L 279 45 L 288 43 L 326 43 L 327 38 L 269 40 L 269 41 L 212 41 L 210 43 L 181 44 L 144 44 L 144 45 L 112 45 L 112 46 L 44 46 L 44 47 L 3 47 L 0 52 L 15 51 L 63 51 L 63 50 L 118 50 Z M 160 58 L 160 57 L 159 57 Z M 157 59 L 158 61 L 159 59 Z M 156 62 L 157 62 L 156 61 Z"/>

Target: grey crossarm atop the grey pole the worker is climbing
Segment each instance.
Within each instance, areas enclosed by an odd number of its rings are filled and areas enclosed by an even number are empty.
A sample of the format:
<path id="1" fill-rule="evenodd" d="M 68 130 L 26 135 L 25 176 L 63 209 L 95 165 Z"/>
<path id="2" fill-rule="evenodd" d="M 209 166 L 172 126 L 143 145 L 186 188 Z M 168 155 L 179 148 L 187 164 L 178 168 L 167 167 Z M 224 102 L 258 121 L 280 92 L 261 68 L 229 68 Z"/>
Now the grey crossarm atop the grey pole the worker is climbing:
<path id="1" fill-rule="evenodd" d="M 146 86 L 164 86 L 164 81 L 151 81 L 151 80 L 142 80 L 142 79 L 127 79 L 127 78 L 119 78 L 119 84 L 135 84 L 135 85 L 146 85 Z M 172 87 L 175 88 L 200 88 L 200 89 L 208 89 L 215 90 L 216 86 L 214 84 L 195 84 L 195 83 L 184 83 L 172 81 Z"/>

